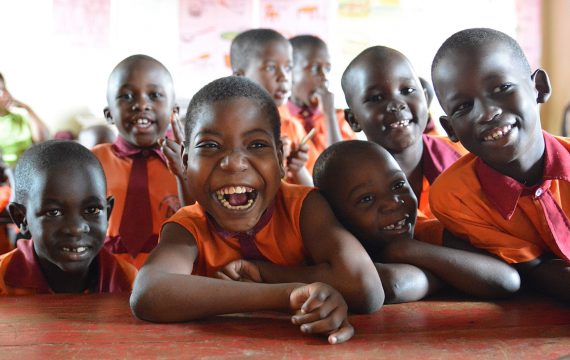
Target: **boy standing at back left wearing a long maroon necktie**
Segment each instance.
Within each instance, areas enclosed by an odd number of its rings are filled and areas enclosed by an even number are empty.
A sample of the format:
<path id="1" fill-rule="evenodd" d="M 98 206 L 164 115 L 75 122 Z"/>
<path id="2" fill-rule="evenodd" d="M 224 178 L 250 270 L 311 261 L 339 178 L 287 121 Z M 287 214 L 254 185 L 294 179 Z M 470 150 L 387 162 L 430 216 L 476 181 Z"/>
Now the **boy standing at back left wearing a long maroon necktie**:
<path id="1" fill-rule="evenodd" d="M 180 208 L 183 193 L 182 175 L 169 171 L 159 146 L 178 113 L 172 77 L 149 56 L 130 56 L 109 76 L 107 103 L 105 117 L 118 136 L 113 144 L 93 148 L 115 198 L 105 247 L 140 268 L 157 244 L 162 222 Z"/>

